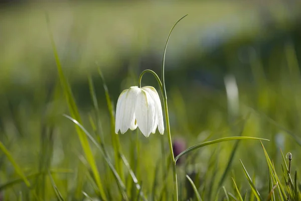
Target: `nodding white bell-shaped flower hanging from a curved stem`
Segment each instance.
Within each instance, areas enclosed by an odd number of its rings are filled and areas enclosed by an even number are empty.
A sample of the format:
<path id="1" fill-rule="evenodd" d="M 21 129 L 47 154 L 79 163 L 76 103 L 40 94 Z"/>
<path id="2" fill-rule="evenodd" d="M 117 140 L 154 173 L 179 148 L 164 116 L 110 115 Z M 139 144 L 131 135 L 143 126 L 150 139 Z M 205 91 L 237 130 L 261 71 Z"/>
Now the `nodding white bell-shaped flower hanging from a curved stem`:
<path id="1" fill-rule="evenodd" d="M 152 86 L 131 86 L 123 90 L 118 97 L 115 116 L 115 133 L 121 134 L 128 129 L 139 127 L 141 133 L 148 137 L 159 132 L 164 133 L 162 106 L 158 92 Z"/>

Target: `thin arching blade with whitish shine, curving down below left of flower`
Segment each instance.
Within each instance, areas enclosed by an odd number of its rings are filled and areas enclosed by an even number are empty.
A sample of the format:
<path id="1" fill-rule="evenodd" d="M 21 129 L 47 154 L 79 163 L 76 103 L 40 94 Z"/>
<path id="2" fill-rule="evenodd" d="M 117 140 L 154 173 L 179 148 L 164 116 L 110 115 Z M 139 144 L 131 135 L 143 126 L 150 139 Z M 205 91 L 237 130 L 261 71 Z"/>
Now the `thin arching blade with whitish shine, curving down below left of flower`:
<path id="1" fill-rule="evenodd" d="M 109 168 L 111 169 L 111 171 L 114 175 L 114 178 L 120 189 L 120 193 L 122 194 L 123 198 L 127 200 L 125 185 L 123 184 L 123 181 L 121 180 L 119 174 L 115 170 L 113 164 L 110 162 L 108 156 L 104 153 L 102 147 L 96 142 L 96 140 L 89 134 L 89 132 L 78 121 L 76 121 L 75 119 L 73 119 L 72 117 L 70 117 L 68 115 L 63 115 L 63 116 L 66 117 L 67 119 L 69 119 L 70 121 L 72 121 L 74 124 L 76 124 L 84 132 L 84 134 L 88 136 L 88 138 L 91 140 L 91 142 L 99 149 L 100 153 L 103 155 L 106 163 L 108 164 Z"/>

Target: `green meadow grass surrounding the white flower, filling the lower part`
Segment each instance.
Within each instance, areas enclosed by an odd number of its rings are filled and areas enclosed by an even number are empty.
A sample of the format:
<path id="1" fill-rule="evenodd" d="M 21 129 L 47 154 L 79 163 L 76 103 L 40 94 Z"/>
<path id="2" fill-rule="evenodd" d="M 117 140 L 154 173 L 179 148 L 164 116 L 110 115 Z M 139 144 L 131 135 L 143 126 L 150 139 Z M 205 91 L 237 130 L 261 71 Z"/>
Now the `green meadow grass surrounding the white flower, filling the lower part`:
<path id="1" fill-rule="evenodd" d="M 167 20 L 165 35 L 176 19 Z M 114 134 L 117 99 L 112 94 L 121 91 L 111 90 L 106 82 L 114 78 L 102 74 L 102 65 L 95 65 L 99 71 L 80 75 L 89 95 L 75 97 L 79 89 L 72 87 L 58 44 L 52 35 L 50 39 L 45 40 L 52 42 L 54 52 L 48 58 L 55 72 L 50 76 L 53 87 L 39 82 L 31 87 L 34 109 L 22 94 L 17 103 L 11 103 L 9 95 L 0 100 L 3 200 L 171 200 L 166 133 L 147 139 L 139 131 Z M 170 45 L 174 41 L 172 37 Z M 159 43 L 158 49 L 163 50 L 163 45 Z M 271 67 L 259 58 L 249 66 L 254 82 L 238 79 L 237 117 L 227 111 L 224 90 L 208 91 L 191 83 L 179 86 L 167 80 L 172 138 L 186 143 L 176 157 L 178 162 L 183 159 L 177 164 L 179 200 L 301 199 L 299 62 L 294 44 L 286 43 L 279 52 L 283 53 L 282 62 L 276 62 L 280 72 L 272 71 L 277 79 L 262 76 Z M 270 56 L 271 61 L 276 59 Z M 38 58 L 34 60 L 38 63 Z M 121 89 L 137 85 L 140 72 L 136 71 L 129 69 L 122 80 L 115 80 L 116 85 Z M 78 104 L 81 98 L 88 99 L 89 107 Z M 291 161 L 285 157 L 287 152 L 292 153 Z"/>

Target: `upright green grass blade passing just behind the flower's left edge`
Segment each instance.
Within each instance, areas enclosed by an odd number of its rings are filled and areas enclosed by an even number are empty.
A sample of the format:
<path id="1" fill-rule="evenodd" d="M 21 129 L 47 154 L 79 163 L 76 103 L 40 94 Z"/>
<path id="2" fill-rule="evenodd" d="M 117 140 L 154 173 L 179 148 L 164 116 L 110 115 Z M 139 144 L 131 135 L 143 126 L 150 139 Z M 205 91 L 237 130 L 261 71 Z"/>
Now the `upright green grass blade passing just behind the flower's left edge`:
<path id="1" fill-rule="evenodd" d="M 123 175 L 123 171 L 122 171 L 122 161 L 121 161 L 121 158 L 118 155 L 118 153 L 121 153 L 119 136 L 117 134 L 115 134 L 114 108 L 113 108 L 113 105 L 112 105 L 112 101 L 111 101 L 111 98 L 110 98 L 108 87 L 105 83 L 105 79 L 104 79 L 103 74 L 100 70 L 100 67 L 98 67 L 98 73 L 99 73 L 99 75 L 101 77 L 101 80 L 102 80 L 102 85 L 103 85 L 103 88 L 104 88 L 105 98 L 106 98 L 106 102 L 107 102 L 107 107 L 108 107 L 109 114 L 110 114 L 111 139 L 112 139 L 112 145 L 113 145 L 113 149 L 114 149 L 116 171 L 120 175 L 120 178 L 122 179 L 122 181 L 124 181 L 124 175 Z"/>

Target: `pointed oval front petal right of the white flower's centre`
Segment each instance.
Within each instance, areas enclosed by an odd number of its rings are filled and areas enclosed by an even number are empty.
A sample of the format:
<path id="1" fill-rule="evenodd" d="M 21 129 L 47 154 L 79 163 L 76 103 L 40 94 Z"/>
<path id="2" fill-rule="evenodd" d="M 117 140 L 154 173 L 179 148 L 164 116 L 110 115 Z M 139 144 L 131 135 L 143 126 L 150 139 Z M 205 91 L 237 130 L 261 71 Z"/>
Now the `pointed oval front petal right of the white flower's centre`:
<path id="1" fill-rule="evenodd" d="M 141 133 L 148 137 L 155 123 L 155 102 L 146 90 L 141 90 L 137 96 L 135 116 Z"/>

